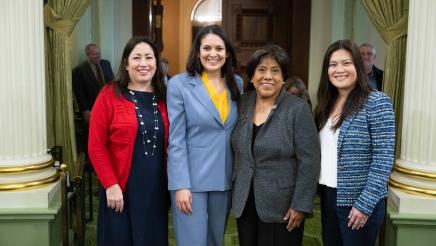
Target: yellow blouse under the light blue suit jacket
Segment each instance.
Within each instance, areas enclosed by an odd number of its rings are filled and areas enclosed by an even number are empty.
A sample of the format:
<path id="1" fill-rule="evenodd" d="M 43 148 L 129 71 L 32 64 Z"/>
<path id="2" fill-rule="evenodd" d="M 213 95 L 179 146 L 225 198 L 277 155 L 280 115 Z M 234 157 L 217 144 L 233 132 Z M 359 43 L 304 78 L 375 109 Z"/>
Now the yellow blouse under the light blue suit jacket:
<path id="1" fill-rule="evenodd" d="M 202 73 L 200 76 L 204 87 L 206 87 L 207 93 L 210 99 L 215 105 L 218 113 L 220 114 L 221 121 L 224 124 L 226 122 L 227 116 L 229 115 L 229 101 L 227 97 L 227 90 L 225 89 L 221 94 L 219 94 L 213 85 L 210 83 L 207 73 Z"/>

